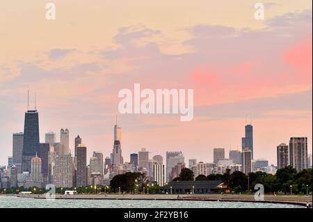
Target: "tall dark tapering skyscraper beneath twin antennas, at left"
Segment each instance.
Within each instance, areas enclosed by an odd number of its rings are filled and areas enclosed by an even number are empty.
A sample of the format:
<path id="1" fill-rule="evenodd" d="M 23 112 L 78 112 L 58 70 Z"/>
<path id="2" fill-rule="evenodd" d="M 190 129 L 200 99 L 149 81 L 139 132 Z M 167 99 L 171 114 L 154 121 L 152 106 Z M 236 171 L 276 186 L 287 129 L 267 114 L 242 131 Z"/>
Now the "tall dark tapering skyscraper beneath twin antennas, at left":
<path id="1" fill-rule="evenodd" d="M 31 171 L 31 158 L 39 150 L 39 121 L 37 110 L 28 110 L 24 120 L 22 171 Z"/>

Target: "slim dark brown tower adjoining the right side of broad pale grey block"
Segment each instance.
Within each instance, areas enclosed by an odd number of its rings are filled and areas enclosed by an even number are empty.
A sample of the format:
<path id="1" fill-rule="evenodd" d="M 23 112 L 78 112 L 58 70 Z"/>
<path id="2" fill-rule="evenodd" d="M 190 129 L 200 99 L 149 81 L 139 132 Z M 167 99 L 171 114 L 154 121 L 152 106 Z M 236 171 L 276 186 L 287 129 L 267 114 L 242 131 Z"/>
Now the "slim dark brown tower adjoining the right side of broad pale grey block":
<path id="1" fill-rule="evenodd" d="M 85 187 L 87 185 L 87 148 L 86 145 L 79 144 L 75 146 L 75 156 L 77 165 L 76 184 L 77 187 Z"/>

